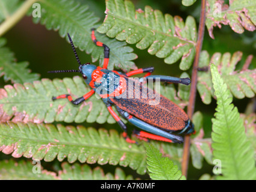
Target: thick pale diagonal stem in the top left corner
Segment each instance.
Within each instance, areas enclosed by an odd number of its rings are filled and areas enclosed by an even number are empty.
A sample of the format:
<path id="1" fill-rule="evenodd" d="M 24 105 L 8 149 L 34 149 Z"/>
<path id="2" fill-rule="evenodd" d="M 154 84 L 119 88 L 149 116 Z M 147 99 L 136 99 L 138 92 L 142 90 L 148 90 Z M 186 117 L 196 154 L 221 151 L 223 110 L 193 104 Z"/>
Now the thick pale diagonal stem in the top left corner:
<path id="1" fill-rule="evenodd" d="M 14 25 L 16 25 L 17 22 L 19 22 L 20 19 L 25 16 L 29 8 L 38 0 L 27 0 L 25 1 L 18 9 L 17 11 L 5 19 L 5 21 L 0 25 L 0 37 L 5 34 L 9 29 L 11 29 Z"/>

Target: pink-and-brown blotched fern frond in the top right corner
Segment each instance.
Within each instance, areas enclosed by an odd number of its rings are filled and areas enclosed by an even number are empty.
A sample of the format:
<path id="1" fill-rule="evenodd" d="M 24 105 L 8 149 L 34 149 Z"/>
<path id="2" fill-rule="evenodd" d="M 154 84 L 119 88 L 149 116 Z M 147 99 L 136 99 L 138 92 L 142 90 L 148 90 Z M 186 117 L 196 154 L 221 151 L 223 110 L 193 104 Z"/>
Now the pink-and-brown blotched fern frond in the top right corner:
<path id="1" fill-rule="evenodd" d="M 205 25 L 207 26 L 209 35 L 213 36 L 213 27 L 221 25 L 229 25 L 234 32 L 242 34 L 246 29 L 254 31 L 256 29 L 256 2 L 245 1 L 224 1 L 208 0 L 207 15 Z"/>

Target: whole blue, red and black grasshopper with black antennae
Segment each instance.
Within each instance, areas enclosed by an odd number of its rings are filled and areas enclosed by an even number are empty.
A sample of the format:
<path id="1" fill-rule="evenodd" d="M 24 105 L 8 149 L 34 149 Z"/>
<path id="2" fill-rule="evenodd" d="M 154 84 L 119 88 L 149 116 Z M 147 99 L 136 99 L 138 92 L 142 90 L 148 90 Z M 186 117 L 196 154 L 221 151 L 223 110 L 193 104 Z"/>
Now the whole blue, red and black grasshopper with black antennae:
<path id="1" fill-rule="evenodd" d="M 96 40 L 94 30 L 92 29 L 93 42 L 96 46 L 104 47 L 104 64 L 102 68 L 90 63 L 81 64 L 70 35 L 67 34 L 79 64 L 78 70 L 49 71 L 49 73 L 80 72 L 92 90 L 82 97 L 76 98 L 76 100 L 73 100 L 69 94 L 52 97 L 52 100 L 67 98 L 71 103 L 77 105 L 97 92 L 106 104 L 110 114 L 122 128 L 123 137 L 125 137 L 127 142 L 135 143 L 134 140 L 131 140 L 127 136 L 126 125 L 112 109 L 113 105 L 116 106 L 120 115 L 126 118 L 131 124 L 144 130 L 134 131 L 140 139 L 147 140 L 146 138 L 148 138 L 164 142 L 182 143 L 183 137 L 177 134 L 190 134 L 194 131 L 194 125 L 184 110 L 163 95 L 149 91 L 148 88 L 143 86 L 143 83 L 134 80 L 130 76 L 146 73 L 144 80 L 152 78 L 152 80 L 160 80 L 161 82 L 182 83 L 184 85 L 189 85 L 190 79 L 170 76 L 151 76 L 154 67 L 140 68 L 129 73 L 107 70 L 110 49 L 105 44 Z M 139 88 L 135 89 L 135 84 L 138 85 L 138 83 Z M 146 90 L 144 96 L 143 90 Z M 152 104 L 157 97 L 159 98 L 158 104 Z"/>

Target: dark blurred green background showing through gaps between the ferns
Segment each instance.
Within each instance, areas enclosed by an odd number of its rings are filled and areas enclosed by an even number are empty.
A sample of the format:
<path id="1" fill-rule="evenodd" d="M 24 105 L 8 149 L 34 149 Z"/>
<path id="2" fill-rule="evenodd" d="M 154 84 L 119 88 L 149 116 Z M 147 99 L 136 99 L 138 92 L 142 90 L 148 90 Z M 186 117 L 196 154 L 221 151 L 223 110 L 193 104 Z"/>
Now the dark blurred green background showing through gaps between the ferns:
<path id="1" fill-rule="evenodd" d="M 105 1 L 104 0 L 79 0 L 81 4 L 88 4 L 90 10 L 93 11 L 96 16 L 100 17 L 101 21 L 104 20 L 105 14 Z M 197 1 L 191 7 L 184 7 L 181 4 L 181 0 L 172 1 L 154 1 L 154 0 L 132 0 L 137 8 L 144 10 L 145 5 L 150 5 L 154 9 L 161 10 L 163 13 L 169 13 L 173 16 L 181 16 L 184 20 L 187 16 L 191 15 L 195 17 L 197 24 L 199 23 L 200 14 L 200 2 Z M 214 37 L 211 39 L 208 35 L 208 31 L 205 28 L 205 37 L 202 50 L 207 50 L 210 56 L 215 52 L 225 53 L 234 52 L 240 50 L 243 52 L 242 61 L 239 62 L 237 68 L 241 68 L 245 59 L 248 55 L 254 54 L 256 50 L 256 34 L 255 32 L 245 31 L 243 34 L 236 34 L 231 30 L 229 26 L 222 26 L 222 29 L 214 28 Z M 8 31 L 4 38 L 7 39 L 7 47 L 15 53 L 17 61 L 28 61 L 30 62 L 29 68 L 34 73 L 41 74 L 41 78 L 60 78 L 72 77 L 74 73 L 58 73 L 49 74 L 47 71 L 51 70 L 68 70 L 76 69 L 78 64 L 76 63 L 75 56 L 73 55 L 72 48 L 66 40 L 58 35 L 57 31 L 48 31 L 45 26 L 40 24 L 34 24 L 31 17 L 24 17 L 17 23 L 14 28 Z M 156 56 L 149 55 L 147 50 L 139 50 L 134 45 L 134 53 L 138 55 L 138 58 L 134 61 L 137 67 L 149 67 L 154 66 L 154 74 L 163 74 L 169 76 L 180 76 L 181 70 L 178 68 L 178 61 L 176 64 L 168 65 L 163 62 L 163 59 L 157 58 Z M 90 55 L 85 52 L 77 50 L 81 62 L 92 62 Z M 250 68 L 256 67 L 256 59 L 252 60 Z M 96 62 L 96 65 L 98 62 Z M 191 74 L 191 71 L 188 71 Z M 1 88 L 11 82 L 4 82 L 0 79 Z M 245 107 L 248 104 L 249 99 L 243 100 L 234 99 L 234 104 L 238 107 L 239 112 L 243 113 Z M 213 102 L 205 106 L 202 103 L 201 98 L 197 95 L 195 111 L 200 110 L 204 114 L 204 130 L 205 137 L 210 137 L 211 131 L 211 118 L 214 114 L 216 102 Z M 98 125 L 98 124 L 86 124 L 86 127 L 105 127 L 110 128 L 113 125 Z M 2 156 L 2 154 L 0 155 Z M 58 163 L 56 163 L 58 164 Z M 56 165 L 57 166 L 57 165 Z M 107 166 L 107 165 L 106 165 Z M 189 166 L 189 178 L 198 179 L 202 173 L 208 171 L 211 173 L 211 167 L 208 164 L 204 164 L 201 170 L 196 170 L 193 166 Z M 47 165 L 46 165 L 47 168 Z"/>

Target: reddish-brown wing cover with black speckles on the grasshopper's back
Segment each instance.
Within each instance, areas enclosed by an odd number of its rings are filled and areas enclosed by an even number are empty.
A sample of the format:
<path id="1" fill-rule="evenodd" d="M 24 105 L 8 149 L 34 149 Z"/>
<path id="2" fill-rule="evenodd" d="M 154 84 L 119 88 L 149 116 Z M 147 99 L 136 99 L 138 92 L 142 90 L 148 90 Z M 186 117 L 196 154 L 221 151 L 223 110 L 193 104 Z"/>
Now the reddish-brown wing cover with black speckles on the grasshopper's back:
<path id="1" fill-rule="evenodd" d="M 131 115 L 134 115 L 151 125 L 166 130 L 177 131 L 182 130 L 185 127 L 185 121 L 189 120 L 189 117 L 183 109 L 158 93 L 154 92 L 154 94 L 158 94 L 158 97 L 152 98 L 153 94 L 152 92 L 149 92 L 149 90 L 152 90 L 143 86 L 142 83 L 140 83 L 140 88 L 138 87 L 138 91 L 136 91 L 134 88 L 135 84 L 132 85 L 132 83 L 128 83 L 128 78 L 125 79 L 127 80 L 126 98 L 111 98 L 111 101 L 120 107 L 120 109 L 125 110 Z M 131 78 L 129 79 L 131 80 Z M 137 81 L 133 80 L 133 82 L 135 83 Z M 145 98 L 143 98 L 142 95 L 143 89 L 147 90 Z M 132 92 L 130 95 L 133 95 L 133 97 L 129 98 L 129 91 L 131 90 Z M 157 105 L 149 104 L 149 102 L 154 102 L 155 98 L 160 98 L 160 103 Z"/>

